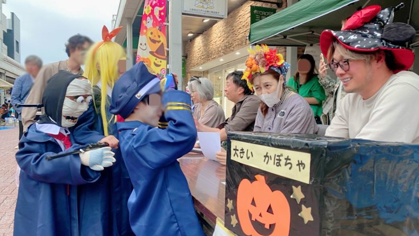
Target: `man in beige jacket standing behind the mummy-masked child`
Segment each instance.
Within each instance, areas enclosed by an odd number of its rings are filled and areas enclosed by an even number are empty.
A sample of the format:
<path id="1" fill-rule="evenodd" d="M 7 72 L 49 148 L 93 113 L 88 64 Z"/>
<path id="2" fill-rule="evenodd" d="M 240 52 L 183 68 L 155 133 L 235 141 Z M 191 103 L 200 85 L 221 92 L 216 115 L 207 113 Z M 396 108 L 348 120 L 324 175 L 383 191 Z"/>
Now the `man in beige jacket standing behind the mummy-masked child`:
<path id="1" fill-rule="evenodd" d="M 92 43 L 93 41 L 90 38 L 80 34 L 70 37 L 65 45 L 65 52 L 67 53 L 68 59 L 51 63 L 41 68 L 36 76 L 32 89 L 30 89 L 25 104 L 41 103 L 42 94 L 47 87 L 47 82 L 53 75 L 58 73 L 58 71 L 67 70 L 73 74 L 82 75 L 83 70 L 81 69 L 81 65 L 84 64 L 86 52 Z M 22 109 L 24 131 L 29 125 L 35 122 L 37 111 L 38 109 L 33 107 L 25 107 Z"/>

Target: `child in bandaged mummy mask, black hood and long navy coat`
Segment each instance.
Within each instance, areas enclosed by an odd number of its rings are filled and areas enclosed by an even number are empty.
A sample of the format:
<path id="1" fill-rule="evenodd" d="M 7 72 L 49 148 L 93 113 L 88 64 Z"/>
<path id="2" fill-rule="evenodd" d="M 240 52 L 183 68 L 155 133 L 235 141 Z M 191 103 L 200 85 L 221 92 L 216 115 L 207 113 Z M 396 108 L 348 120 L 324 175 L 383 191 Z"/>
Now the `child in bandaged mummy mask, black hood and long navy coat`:
<path id="1" fill-rule="evenodd" d="M 111 148 L 98 148 L 48 160 L 48 156 L 79 150 L 73 126 L 91 101 L 91 84 L 80 75 L 59 71 L 49 81 L 42 102 L 45 115 L 29 126 L 16 160 L 22 169 L 14 219 L 15 236 L 73 236 L 81 222 L 78 185 L 95 182 L 115 162 Z M 103 141 L 103 140 L 102 140 Z M 83 191 L 88 191 L 84 189 Z M 93 209 L 91 209 L 93 210 Z"/>

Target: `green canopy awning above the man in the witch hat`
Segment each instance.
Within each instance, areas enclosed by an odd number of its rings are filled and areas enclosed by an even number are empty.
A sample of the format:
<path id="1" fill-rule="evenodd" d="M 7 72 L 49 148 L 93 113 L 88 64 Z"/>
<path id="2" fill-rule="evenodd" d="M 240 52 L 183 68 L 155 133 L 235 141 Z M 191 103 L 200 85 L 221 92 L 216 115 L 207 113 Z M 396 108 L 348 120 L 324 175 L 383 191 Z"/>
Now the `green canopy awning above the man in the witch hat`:
<path id="1" fill-rule="evenodd" d="M 249 40 L 251 44 L 271 46 L 318 45 L 321 31 L 339 30 L 341 21 L 361 7 L 381 5 L 382 8 L 386 8 L 396 6 L 401 1 L 403 0 L 300 0 L 251 25 Z M 394 14 L 394 22 L 409 23 L 415 29 L 419 29 L 419 15 L 412 15 L 413 9 L 419 9 L 419 1 L 403 2 L 405 7 Z M 416 40 L 417 43 L 412 46 L 419 46 L 419 37 Z"/>

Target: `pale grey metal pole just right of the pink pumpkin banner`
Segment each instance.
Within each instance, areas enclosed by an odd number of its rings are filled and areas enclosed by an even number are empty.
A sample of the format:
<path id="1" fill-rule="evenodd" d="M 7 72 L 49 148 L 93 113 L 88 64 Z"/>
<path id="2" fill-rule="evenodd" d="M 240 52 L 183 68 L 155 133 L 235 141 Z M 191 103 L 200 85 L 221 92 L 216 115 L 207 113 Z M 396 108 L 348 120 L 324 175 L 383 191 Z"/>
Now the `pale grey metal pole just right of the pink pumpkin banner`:
<path id="1" fill-rule="evenodd" d="M 178 75 L 178 88 L 183 88 L 182 78 L 182 4 L 176 0 L 169 3 L 169 61 L 171 73 Z"/>

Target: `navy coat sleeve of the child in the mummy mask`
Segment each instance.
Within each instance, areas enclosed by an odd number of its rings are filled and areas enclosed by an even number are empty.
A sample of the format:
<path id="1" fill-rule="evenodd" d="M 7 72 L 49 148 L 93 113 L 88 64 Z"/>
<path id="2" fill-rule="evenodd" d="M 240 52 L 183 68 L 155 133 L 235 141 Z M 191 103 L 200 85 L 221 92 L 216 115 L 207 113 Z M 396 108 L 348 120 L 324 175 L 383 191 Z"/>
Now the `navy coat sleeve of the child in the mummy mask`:
<path id="1" fill-rule="evenodd" d="M 34 180 L 79 185 L 94 182 L 100 177 L 100 172 L 81 165 L 79 154 L 67 155 L 51 161 L 47 160 L 47 156 L 63 153 L 61 148 L 52 140 L 37 142 L 28 139 L 26 135 L 22 137 L 19 143 L 20 149 L 16 153 L 16 160 L 22 171 Z M 40 134 L 34 134 L 33 136 L 35 135 L 41 136 Z M 44 137 L 39 138 L 43 139 Z M 73 145 L 64 152 L 79 148 L 81 146 Z"/>

